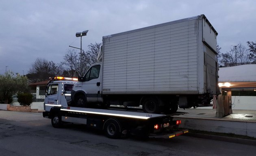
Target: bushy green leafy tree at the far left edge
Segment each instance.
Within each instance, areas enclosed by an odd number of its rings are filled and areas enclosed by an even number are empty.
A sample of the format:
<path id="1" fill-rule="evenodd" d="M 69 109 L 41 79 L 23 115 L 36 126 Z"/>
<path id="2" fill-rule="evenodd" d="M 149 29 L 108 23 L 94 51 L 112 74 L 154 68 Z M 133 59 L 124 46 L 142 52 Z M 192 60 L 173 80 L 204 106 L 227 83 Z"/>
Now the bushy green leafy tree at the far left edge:
<path id="1" fill-rule="evenodd" d="M 29 92 L 28 79 L 20 74 L 14 75 L 12 71 L 0 75 L 0 101 L 5 104 L 12 102 L 12 96 L 19 92 Z"/>

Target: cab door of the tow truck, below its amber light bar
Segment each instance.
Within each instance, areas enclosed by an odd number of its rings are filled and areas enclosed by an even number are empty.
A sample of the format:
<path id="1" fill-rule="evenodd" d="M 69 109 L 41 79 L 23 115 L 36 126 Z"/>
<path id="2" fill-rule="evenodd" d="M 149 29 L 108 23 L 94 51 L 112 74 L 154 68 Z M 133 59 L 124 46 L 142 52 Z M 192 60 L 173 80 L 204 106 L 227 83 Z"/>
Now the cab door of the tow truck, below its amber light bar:
<path id="1" fill-rule="evenodd" d="M 59 97 L 59 84 L 52 83 L 48 85 L 48 89 L 46 91 L 46 98 L 44 100 L 45 103 L 45 111 L 50 111 L 53 106 L 59 106 L 60 101 L 58 101 Z"/>

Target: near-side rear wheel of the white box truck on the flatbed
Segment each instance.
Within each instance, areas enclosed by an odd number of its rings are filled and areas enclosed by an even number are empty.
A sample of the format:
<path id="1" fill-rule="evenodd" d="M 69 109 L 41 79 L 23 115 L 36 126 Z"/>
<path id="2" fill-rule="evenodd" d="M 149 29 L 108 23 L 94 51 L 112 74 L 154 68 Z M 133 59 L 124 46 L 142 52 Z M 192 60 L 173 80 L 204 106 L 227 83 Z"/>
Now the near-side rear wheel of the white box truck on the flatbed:
<path id="1" fill-rule="evenodd" d="M 146 98 L 143 100 L 142 109 L 145 113 L 160 113 L 158 100 L 156 98 Z"/>

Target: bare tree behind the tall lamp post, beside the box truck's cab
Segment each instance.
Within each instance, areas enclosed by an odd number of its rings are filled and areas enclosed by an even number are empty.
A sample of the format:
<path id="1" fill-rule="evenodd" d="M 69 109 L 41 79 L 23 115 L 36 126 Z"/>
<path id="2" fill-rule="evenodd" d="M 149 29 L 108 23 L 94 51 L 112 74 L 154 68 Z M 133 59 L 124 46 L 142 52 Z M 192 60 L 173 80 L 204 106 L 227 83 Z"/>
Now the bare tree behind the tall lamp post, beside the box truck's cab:
<path id="1" fill-rule="evenodd" d="M 70 77 L 78 76 L 80 73 L 80 69 L 82 68 L 81 75 L 84 75 L 85 72 L 89 69 L 89 67 L 96 63 L 98 51 L 102 43 L 91 43 L 88 45 L 89 50 L 86 52 L 82 50 L 82 66 L 80 64 L 80 52 L 76 52 L 75 50 L 68 50 L 64 56 L 63 65 L 67 67 L 65 74 L 68 74 Z"/>

